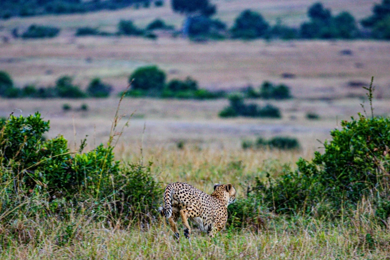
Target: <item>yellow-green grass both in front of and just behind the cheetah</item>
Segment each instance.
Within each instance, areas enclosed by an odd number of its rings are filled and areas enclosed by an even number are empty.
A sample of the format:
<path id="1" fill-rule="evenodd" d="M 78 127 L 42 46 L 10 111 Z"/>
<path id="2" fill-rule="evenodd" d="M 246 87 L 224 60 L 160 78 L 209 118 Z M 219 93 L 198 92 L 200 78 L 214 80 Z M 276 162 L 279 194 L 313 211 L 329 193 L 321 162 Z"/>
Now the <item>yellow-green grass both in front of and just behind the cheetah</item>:
<path id="1" fill-rule="evenodd" d="M 133 147 L 130 154 L 121 155 L 127 161 L 138 161 L 139 149 Z M 277 176 L 283 163 L 296 161 L 302 154 L 154 147 L 145 149 L 143 155 L 145 161 L 153 160 L 152 172 L 162 185 L 186 181 L 210 193 L 213 183 L 232 182 L 239 197 L 243 197 L 243 188 L 255 177 L 265 173 Z M 0 259 L 336 260 L 388 259 L 390 254 L 390 231 L 372 218 L 374 210 L 364 198 L 356 211 L 331 222 L 299 214 L 289 218 L 266 212 L 259 214 L 264 221 L 261 227 L 228 228 L 213 240 L 195 229 L 191 245 L 183 236 L 179 244 L 175 243 L 168 225 L 160 218 L 151 225 L 126 227 L 109 220 L 96 222 L 94 214 L 70 212 L 67 221 L 38 216 L 0 226 L 1 234 L 8 234 L 6 244 L 0 247 Z"/>

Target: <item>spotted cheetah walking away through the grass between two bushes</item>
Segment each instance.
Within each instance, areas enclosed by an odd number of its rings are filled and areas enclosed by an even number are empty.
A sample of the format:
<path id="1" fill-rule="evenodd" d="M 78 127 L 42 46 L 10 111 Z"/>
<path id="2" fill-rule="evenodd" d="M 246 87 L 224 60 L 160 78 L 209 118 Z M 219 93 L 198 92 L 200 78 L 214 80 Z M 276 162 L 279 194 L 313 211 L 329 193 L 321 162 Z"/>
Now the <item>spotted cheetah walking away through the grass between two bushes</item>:
<path id="1" fill-rule="evenodd" d="M 228 219 L 228 205 L 235 202 L 236 189 L 231 183 L 214 184 L 211 195 L 184 183 L 175 182 L 166 186 L 164 192 L 164 208 L 160 207 L 161 215 L 168 219 L 174 233 L 179 240 L 179 230 L 176 222 L 179 215 L 184 225 L 184 236 L 190 240 L 191 228 L 188 219 L 192 220 L 210 238 L 225 228 Z"/>

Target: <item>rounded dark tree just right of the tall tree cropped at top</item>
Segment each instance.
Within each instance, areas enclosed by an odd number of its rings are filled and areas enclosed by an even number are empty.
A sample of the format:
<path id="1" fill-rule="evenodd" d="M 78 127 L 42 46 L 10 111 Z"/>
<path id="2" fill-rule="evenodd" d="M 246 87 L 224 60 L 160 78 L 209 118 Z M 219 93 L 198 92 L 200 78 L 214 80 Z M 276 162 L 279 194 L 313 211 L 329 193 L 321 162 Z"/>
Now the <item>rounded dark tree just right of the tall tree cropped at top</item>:
<path id="1" fill-rule="evenodd" d="M 260 13 L 247 9 L 236 18 L 232 34 L 234 38 L 255 39 L 265 36 L 268 27 Z"/>

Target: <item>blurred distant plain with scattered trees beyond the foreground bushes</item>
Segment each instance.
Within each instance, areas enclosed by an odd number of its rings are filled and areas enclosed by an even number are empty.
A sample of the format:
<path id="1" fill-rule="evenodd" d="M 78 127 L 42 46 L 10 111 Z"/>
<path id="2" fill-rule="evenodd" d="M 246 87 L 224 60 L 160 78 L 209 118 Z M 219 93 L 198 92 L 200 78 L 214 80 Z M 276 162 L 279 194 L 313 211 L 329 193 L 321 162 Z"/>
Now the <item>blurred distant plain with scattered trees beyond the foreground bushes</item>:
<path id="1" fill-rule="evenodd" d="M 0 116 L 87 149 L 300 148 L 390 113 L 389 0 L 0 0 Z M 371 113 L 371 112 L 369 112 Z M 132 115 L 132 116 L 131 116 Z M 88 135 L 88 136 L 87 136 Z"/>

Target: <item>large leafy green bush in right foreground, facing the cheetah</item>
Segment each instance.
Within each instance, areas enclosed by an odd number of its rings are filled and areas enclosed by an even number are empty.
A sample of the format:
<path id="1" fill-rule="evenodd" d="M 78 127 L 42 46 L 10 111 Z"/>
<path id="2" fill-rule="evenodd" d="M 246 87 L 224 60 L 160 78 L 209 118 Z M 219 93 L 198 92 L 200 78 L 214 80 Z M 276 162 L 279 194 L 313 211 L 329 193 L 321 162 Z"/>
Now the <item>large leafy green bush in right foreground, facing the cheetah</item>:
<path id="1" fill-rule="evenodd" d="M 342 207 L 356 207 L 362 196 L 387 187 L 390 119 L 359 115 L 341 127 L 331 131 L 323 154 L 315 152 L 312 161 L 299 159 L 296 171 L 269 180 L 269 185 L 258 181 L 258 194 L 271 210 L 338 216 Z"/>

